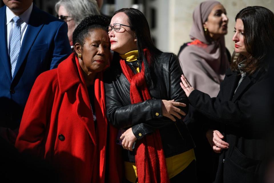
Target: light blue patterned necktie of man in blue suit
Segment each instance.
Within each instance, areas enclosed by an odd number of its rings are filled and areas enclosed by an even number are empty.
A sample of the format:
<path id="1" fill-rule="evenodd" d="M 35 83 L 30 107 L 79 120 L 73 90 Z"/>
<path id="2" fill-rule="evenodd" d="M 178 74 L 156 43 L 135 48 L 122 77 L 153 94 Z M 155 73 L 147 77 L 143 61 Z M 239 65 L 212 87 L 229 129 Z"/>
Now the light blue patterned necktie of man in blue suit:
<path id="1" fill-rule="evenodd" d="M 15 70 L 15 66 L 17 63 L 17 58 L 19 55 L 19 51 L 21 48 L 21 42 L 20 42 L 20 35 L 21 35 L 21 18 L 20 17 L 13 17 L 12 19 L 14 21 L 14 28 L 11 36 L 11 51 L 10 51 L 10 58 L 11 58 L 11 76 L 13 77 L 13 73 Z"/>

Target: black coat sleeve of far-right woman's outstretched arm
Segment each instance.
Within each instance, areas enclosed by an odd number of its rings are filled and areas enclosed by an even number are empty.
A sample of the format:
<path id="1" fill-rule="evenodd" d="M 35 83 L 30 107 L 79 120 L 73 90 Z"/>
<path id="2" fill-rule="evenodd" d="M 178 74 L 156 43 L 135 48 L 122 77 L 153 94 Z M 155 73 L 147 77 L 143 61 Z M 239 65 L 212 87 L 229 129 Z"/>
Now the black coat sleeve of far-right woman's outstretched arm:
<path id="1" fill-rule="evenodd" d="M 194 90 L 188 98 L 190 104 L 209 120 L 254 132 L 264 129 L 266 116 L 270 114 L 267 112 L 269 94 L 265 80 L 253 84 L 235 102 L 221 100 L 220 96 L 210 98 L 208 94 Z"/>

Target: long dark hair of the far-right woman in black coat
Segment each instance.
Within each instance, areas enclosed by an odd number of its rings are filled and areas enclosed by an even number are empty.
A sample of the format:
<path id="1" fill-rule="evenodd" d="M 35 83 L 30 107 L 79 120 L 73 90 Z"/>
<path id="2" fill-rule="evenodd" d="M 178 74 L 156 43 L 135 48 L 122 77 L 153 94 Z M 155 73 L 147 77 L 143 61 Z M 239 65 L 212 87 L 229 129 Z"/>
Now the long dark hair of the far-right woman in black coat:
<path id="1" fill-rule="evenodd" d="M 238 71 L 238 64 L 243 61 L 241 68 L 248 75 L 257 69 L 267 70 L 268 61 L 273 58 L 274 50 L 274 14 L 261 6 L 249 6 L 242 9 L 235 18 L 241 19 L 244 26 L 244 44 L 249 56 L 232 55 L 231 70 Z"/>

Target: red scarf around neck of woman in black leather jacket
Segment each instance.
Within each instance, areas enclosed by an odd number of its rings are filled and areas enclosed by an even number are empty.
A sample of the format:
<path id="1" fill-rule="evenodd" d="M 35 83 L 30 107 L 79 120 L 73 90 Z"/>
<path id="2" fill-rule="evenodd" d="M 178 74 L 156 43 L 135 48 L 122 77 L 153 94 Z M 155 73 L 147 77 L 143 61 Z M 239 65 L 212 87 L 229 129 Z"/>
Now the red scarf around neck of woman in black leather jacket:
<path id="1" fill-rule="evenodd" d="M 146 57 L 147 54 L 150 54 L 147 49 L 144 49 L 144 53 Z M 150 63 L 149 59 L 148 62 Z M 130 82 L 131 104 L 151 99 L 145 80 L 144 62 L 142 63 L 141 72 L 137 74 L 132 72 L 124 59 L 120 60 L 120 65 L 123 74 Z M 169 182 L 159 130 L 137 141 L 135 161 L 139 183 Z"/>

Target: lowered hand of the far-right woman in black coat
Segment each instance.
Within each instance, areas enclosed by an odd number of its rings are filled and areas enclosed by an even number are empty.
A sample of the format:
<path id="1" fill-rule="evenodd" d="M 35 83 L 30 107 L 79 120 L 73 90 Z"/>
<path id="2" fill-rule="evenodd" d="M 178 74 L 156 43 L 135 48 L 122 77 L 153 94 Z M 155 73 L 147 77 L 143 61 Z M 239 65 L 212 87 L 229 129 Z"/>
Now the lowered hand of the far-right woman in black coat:
<path id="1" fill-rule="evenodd" d="M 209 129 L 206 138 L 215 153 L 220 153 L 222 149 L 228 149 L 229 143 L 223 141 L 224 136 L 218 130 Z"/>

